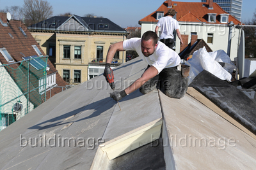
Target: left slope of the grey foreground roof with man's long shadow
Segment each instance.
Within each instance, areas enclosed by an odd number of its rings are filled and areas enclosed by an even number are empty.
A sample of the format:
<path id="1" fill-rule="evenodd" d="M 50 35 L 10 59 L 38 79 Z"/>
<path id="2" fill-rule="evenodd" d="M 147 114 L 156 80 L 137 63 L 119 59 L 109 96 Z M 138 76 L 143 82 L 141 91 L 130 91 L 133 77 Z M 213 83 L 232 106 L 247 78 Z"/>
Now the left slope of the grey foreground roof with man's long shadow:
<path id="1" fill-rule="evenodd" d="M 121 81 L 121 76 L 122 80 L 141 76 L 147 67 L 147 64 L 141 61 L 134 59 L 114 69 L 116 90 L 121 88 L 118 88 L 118 85 L 121 85 L 118 83 Z M 134 81 L 131 78 L 127 83 Z M 119 111 L 116 101 L 109 97 L 109 92 L 113 90 L 106 83 L 104 76 L 97 76 L 52 97 L 1 131 L 0 167 L 3 169 L 90 169 L 98 148 L 97 144 L 91 145 L 102 138 L 111 115 Z M 157 97 L 157 94 L 155 96 Z M 127 112 L 133 108 L 132 114 L 136 115 L 142 109 L 141 107 L 147 110 L 147 107 L 143 106 L 145 100 L 143 97 L 147 96 L 143 96 L 140 92 L 130 94 L 124 101 L 120 101 L 122 112 L 119 112 L 125 113 L 125 110 Z M 140 110 L 136 111 L 136 105 L 140 105 Z M 156 109 L 159 110 L 159 107 Z M 150 110 L 145 113 L 147 112 L 149 113 Z M 123 127 L 122 131 L 130 131 L 125 129 L 125 124 Z M 137 127 L 139 125 L 136 123 L 129 126 L 131 129 Z M 65 138 L 70 139 L 70 142 Z"/>

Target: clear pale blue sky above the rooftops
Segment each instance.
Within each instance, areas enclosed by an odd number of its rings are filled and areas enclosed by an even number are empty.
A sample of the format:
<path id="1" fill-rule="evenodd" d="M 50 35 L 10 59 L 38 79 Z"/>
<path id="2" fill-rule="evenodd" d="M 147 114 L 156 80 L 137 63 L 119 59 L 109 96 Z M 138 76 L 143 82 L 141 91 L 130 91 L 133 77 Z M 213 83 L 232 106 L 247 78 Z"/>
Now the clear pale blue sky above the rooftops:
<path id="1" fill-rule="evenodd" d="M 201 2 L 201 0 L 175 0 L 180 2 Z M 148 0 L 51 0 L 48 2 L 53 8 L 53 15 L 71 13 L 83 17 L 88 13 L 93 13 L 99 17 L 108 18 L 120 27 L 134 27 L 140 25 L 139 20 L 154 12 L 163 4 L 161 1 Z M 0 0 L 0 10 L 6 6 L 23 6 L 22 0 Z M 256 9 L 255 0 L 243 0 L 242 4 L 242 22 L 252 20 Z"/>

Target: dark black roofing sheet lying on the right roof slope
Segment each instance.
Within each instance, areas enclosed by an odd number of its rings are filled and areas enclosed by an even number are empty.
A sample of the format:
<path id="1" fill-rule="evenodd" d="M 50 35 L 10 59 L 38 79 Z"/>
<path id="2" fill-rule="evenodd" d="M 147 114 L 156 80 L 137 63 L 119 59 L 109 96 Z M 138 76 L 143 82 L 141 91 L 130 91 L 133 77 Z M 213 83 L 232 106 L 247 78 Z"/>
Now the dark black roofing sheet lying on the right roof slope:
<path id="1" fill-rule="evenodd" d="M 243 91 L 205 70 L 196 76 L 189 87 L 194 87 L 204 94 L 256 134 L 256 102 L 246 96 Z"/>

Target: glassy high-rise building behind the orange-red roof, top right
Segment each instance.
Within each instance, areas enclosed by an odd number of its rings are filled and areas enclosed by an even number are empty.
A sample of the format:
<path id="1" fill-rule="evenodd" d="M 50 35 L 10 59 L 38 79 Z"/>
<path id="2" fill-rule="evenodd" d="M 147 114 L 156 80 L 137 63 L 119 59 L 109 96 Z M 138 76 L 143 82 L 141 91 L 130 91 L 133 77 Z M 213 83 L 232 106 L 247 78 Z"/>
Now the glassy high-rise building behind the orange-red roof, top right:
<path id="1" fill-rule="evenodd" d="M 207 1 L 211 0 L 202 0 L 202 3 Z M 220 5 L 223 10 L 241 21 L 243 0 L 213 0 L 213 2 Z"/>

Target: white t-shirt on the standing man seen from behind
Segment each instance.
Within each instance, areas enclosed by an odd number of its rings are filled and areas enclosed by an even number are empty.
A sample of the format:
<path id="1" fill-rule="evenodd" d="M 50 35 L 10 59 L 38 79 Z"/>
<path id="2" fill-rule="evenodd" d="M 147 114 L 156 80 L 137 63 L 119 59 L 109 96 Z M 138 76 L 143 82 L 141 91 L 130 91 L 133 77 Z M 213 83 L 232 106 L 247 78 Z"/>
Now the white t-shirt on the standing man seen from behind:
<path id="1" fill-rule="evenodd" d="M 161 27 L 160 39 L 173 39 L 173 30 L 179 29 L 179 23 L 172 17 L 162 17 L 157 22 L 157 26 Z"/>

